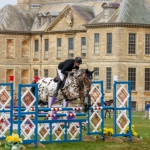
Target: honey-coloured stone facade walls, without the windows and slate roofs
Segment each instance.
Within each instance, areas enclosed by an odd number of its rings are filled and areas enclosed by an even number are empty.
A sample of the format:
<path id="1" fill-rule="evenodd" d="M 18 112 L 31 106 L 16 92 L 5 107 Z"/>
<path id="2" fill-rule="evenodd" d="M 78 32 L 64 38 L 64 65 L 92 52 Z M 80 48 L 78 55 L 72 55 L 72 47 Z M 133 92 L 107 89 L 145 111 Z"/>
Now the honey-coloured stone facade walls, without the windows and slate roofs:
<path id="1" fill-rule="evenodd" d="M 69 0 L 68 0 L 69 1 Z M 80 0 L 79 0 L 80 1 Z M 18 5 L 33 1 L 18 0 Z M 38 3 L 38 1 L 36 1 Z M 40 1 L 41 2 L 41 1 Z M 66 1 L 65 1 L 66 2 Z M 41 2 L 42 3 L 42 2 Z M 40 4 L 41 4 L 40 3 Z M 102 4 L 102 3 L 101 3 Z M 27 6 L 27 5 L 26 5 Z M 28 10 L 28 8 L 24 8 Z M 73 25 L 69 28 L 65 13 L 72 10 Z M 37 23 L 38 21 L 34 22 Z M 63 11 L 53 22 L 47 23 L 43 31 L 34 32 L 1 32 L 0 34 L 0 82 L 9 82 L 9 75 L 15 76 L 15 91 L 19 83 L 31 83 L 38 71 L 38 76 L 44 77 L 44 70 L 48 76 L 55 77 L 58 64 L 68 59 L 68 38 L 74 39 L 73 54 L 81 56 L 81 38 L 86 38 L 86 57 L 83 57 L 81 68 L 93 70 L 99 68 L 99 79 L 104 81 L 105 99 L 113 98 L 113 78 L 119 81 L 128 80 L 128 68 L 136 68 L 135 90 L 132 91 L 132 101 L 138 111 L 142 111 L 145 102 L 150 101 L 150 91 L 145 91 L 145 68 L 150 68 L 150 55 L 145 55 L 145 34 L 150 33 L 150 27 L 137 25 L 110 25 L 86 27 L 88 21 L 65 6 Z M 94 34 L 99 34 L 99 54 L 94 54 Z M 112 34 L 112 53 L 107 53 L 107 34 Z M 136 34 L 136 54 L 128 54 L 129 33 Z M 61 55 L 57 56 L 57 39 L 61 39 Z M 35 50 L 35 41 L 38 50 Z M 48 40 L 48 51 L 45 51 L 45 40 Z M 111 89 L 107 90 L 106 69 L 111 68 Z M 136 103 L 135 103 L 136 102 Z"/>

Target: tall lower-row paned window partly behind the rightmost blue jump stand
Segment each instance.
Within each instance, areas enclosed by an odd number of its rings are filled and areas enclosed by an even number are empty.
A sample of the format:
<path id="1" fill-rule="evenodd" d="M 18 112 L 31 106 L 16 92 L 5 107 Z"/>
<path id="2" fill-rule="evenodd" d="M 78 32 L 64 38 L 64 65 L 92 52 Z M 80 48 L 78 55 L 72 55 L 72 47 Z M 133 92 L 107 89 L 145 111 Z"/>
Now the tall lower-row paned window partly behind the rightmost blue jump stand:
<path id="1" fill-rule="evenodd" d="M 136 68 L 128 68 L 128 80 L 132 81 L 132 90 L 136 90 Z"/>

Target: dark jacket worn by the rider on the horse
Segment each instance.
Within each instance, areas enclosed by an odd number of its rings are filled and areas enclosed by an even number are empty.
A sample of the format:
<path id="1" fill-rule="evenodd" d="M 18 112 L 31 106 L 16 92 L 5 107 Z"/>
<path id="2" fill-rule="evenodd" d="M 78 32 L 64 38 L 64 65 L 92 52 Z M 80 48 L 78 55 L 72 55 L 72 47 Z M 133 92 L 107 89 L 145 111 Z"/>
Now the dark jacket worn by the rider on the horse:
<path id="1" fill-rule="evenodd" d="M 74 66 L 74 62 L 74 59 L 67 59 L 58 65 L 58 69 L 67 77 L 69 71 L 72 71 L 72 69 L 79 69 L 79 67 Z"/>

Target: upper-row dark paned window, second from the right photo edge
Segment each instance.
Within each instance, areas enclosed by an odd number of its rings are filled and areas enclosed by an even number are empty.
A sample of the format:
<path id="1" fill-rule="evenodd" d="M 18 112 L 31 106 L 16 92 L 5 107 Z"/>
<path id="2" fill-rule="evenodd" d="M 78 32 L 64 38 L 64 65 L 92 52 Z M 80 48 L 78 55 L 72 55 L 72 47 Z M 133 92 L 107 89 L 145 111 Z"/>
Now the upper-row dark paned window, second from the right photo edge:
<path id="1" fill-rule="evenodd" d="M 129 54 L 136 53 L 136 34 L 130 33 L 129 34 L 129 45 L 128 45 Z"/>

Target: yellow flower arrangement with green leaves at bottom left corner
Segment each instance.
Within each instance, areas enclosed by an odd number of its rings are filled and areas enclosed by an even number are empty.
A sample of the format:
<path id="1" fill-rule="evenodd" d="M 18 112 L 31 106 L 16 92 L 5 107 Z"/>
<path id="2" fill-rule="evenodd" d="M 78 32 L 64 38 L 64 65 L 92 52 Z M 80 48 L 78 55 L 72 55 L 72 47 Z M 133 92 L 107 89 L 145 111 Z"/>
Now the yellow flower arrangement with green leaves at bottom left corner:
<path id="1" fill-rule="evenodd" d="M 19 138 L 18 134 L 12 134 L 12 136 L 6 137 L 5 148 L 11 150 L 20 150 L 22 148 L 22 139 Z"/>

